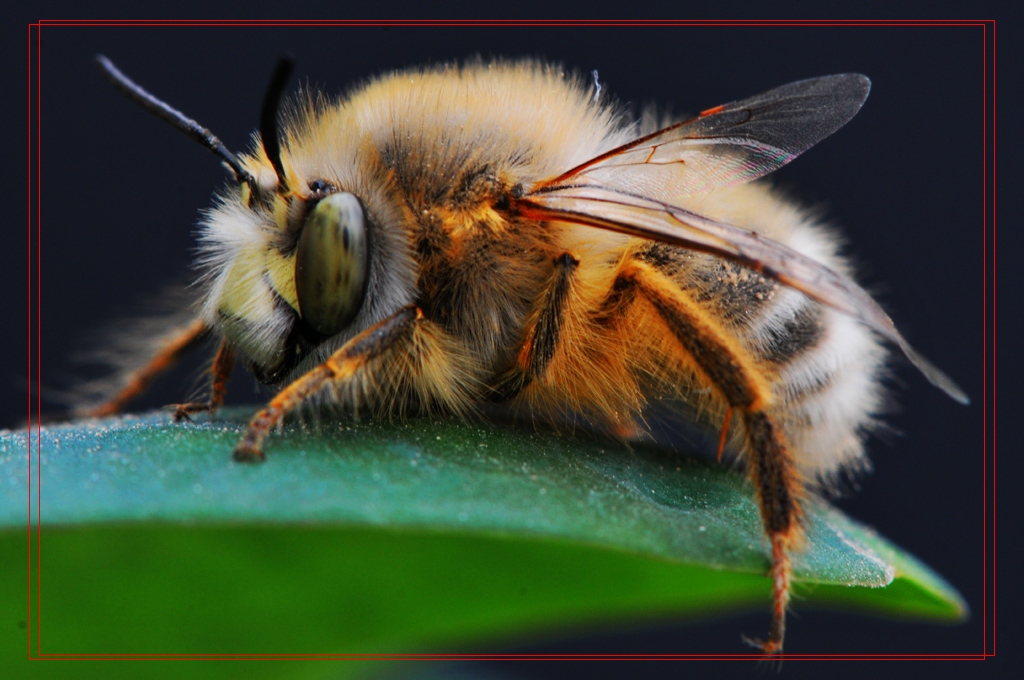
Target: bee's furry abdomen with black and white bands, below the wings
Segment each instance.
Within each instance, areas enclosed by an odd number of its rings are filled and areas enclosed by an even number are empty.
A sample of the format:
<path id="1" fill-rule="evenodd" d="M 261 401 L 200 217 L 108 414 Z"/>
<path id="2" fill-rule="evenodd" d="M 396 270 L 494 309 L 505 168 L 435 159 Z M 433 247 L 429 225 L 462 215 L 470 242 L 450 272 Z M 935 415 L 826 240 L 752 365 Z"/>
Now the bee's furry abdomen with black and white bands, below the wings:
<path id="1" fill-rule="evenodd" d="M 797 468 L 829 483 L 866 467 L 885 351 L 863 325 L 733 262 L 671 246 L 638 255 L 720 321 L 760 367 Z"/>

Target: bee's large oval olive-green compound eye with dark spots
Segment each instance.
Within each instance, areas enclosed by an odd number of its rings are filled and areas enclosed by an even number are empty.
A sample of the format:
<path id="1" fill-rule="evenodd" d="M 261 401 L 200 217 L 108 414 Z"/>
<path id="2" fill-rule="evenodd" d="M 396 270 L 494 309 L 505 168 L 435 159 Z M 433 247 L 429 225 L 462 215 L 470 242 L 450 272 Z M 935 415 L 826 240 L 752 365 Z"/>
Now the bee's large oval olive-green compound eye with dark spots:
<path id="1" fill-rule="evenodd" d="M 367 213 L 352 194 L 332 194 L 306 216 L 295 255 L 299 313 L 324 335 L 342 331 L 366 294 Z"/>

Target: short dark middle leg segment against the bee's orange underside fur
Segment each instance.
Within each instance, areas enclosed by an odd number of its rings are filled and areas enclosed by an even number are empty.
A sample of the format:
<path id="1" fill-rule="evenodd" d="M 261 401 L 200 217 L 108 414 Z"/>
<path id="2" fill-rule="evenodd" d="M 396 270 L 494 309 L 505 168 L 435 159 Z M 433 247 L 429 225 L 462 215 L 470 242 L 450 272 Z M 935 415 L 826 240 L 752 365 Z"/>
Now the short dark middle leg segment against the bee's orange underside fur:
<path id="1" fill-rule="evenodd" d="M 512 370 L 495 388 L 495 400 L 511 399 L 534 380 L 541 378 L 555 355 L 562 326 L 562 311 L 580 260 L 569 253 L 555 258 L 555 268 L 531 323 L 526 327 L 522 346 Z"/>

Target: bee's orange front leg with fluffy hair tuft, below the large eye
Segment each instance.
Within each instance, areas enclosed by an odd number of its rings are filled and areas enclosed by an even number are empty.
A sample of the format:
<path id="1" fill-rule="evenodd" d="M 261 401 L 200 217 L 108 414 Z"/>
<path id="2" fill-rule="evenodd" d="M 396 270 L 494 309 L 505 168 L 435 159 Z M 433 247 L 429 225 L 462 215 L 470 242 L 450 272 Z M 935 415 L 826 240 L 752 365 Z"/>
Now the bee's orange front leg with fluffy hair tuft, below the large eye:
<path id="1" fill-rule="evenodd" d="M 461 413 L 478 396 L 477 384 L 462 347 L 418 307 L 402 307 L 281 390 L 250 421 L 234 460 L 262 461 L 270 430 L 329 387 L 344 406 L 368 400 L 388 408 L 415 399 L 425 408 Z"/>

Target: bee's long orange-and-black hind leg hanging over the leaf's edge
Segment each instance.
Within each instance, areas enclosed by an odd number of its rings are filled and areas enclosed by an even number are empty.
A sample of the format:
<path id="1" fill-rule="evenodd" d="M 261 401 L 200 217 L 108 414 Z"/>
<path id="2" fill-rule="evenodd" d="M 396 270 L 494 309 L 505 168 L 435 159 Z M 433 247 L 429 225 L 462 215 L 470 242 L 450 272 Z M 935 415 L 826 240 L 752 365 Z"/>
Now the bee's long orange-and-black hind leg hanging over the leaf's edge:
<path id="1" fill-rule="evenodd" d="M 803 483 L 781 428 L 772 419 L 770 386 L 740 344 L 689 296 L 655 268 L 628 263 L 616 283 L 617 295 L 632 289 L 646 300 L 679 341 L 680 360 L 739 415 L 745 438 L 748 474 L 757 491 L 761 520 L 771 543 L 772 623 L 768 639 L 755 641 L 765 653 L 782 650 L 785 607 L 793 567 L 790 553 L 802 536 Z"/>

